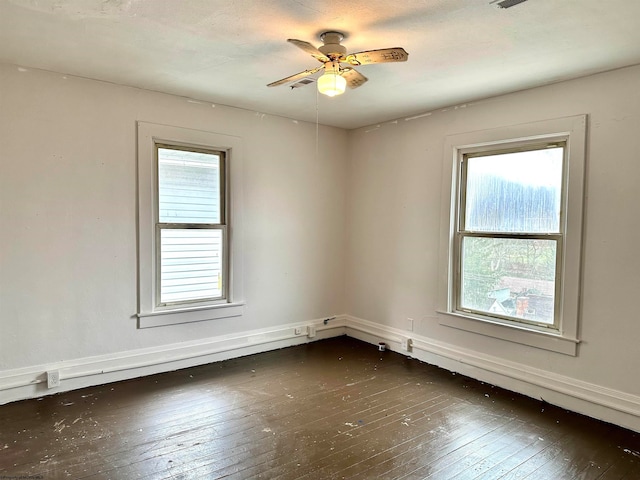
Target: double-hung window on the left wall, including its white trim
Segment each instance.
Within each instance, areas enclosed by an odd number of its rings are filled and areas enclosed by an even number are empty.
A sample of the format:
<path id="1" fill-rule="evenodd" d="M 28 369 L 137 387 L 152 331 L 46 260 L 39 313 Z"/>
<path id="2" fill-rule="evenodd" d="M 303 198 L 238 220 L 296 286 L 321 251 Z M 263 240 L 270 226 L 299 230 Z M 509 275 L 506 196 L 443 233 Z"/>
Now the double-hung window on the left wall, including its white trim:
<path id="1" fill-rule="evenodd" d="M 242 315 L 242 142 L 138 122 L 138 319 Z"/>

